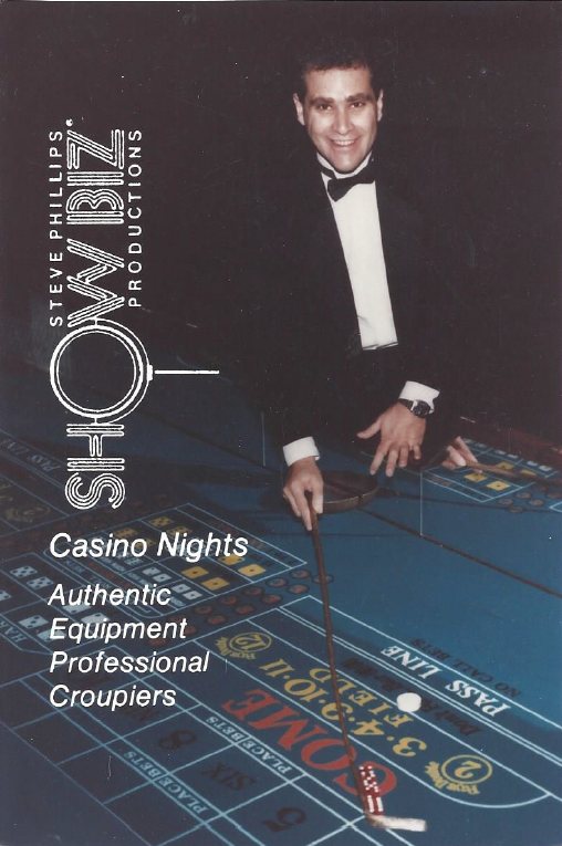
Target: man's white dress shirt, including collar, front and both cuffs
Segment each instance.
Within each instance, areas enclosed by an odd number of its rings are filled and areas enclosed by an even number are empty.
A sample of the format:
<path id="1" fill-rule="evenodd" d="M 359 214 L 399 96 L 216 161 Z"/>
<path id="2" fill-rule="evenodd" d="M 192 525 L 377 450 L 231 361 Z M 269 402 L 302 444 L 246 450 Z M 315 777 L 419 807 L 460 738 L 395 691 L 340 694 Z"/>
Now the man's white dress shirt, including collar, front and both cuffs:
<path id="1" fill-rule="evenodd" d="M 320 154 L 319 161 L 333 171 Z M 337 174 L 336 179 L 354 176 L 366 167 L 371 153 L 352 174 Z M 322 171 L 324 187 L 330 177 Z M 381 237 L 381 222 L 375 182 L 355 185 L 336 202 L 329 196 L 353 291 L 363 349 L 396 346 L 398 338 L 394 325 L 391 294 Z M 406 382 L 400 399 L 420 399 L 433 408 L 439 391 L 417 382 Z M 374 420 L 373 420 L 374 422 Z M 320 458 L 314 438 L 306 437 L 283 447 L 290 466 L 301 458 Z"/>

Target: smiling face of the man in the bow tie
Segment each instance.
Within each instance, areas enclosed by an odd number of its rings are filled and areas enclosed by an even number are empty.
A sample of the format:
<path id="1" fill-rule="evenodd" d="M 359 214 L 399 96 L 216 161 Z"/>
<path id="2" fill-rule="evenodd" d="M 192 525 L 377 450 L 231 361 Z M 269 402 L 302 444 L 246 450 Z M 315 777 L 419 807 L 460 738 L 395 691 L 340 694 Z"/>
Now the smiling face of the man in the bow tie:
<path id="1" fill-rule="evenodd" d="M 367 67 L 310 71 L 304 83 L 304 103 L 293 94 L 299 123 L 335 170 L 355 170 L 376 138 L 383 92 L 376 98 Z"/>

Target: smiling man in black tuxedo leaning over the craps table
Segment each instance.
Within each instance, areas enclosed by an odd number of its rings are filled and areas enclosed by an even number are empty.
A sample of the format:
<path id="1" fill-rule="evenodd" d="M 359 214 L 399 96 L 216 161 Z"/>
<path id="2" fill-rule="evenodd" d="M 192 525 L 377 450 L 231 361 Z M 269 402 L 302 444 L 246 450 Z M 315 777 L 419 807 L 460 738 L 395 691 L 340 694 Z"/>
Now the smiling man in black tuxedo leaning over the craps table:
<path id="1" fill-rule="evenodd" d="M 270 378 L 289 466 L 283 494 L 310 529 L 306 492 L 321 513 L 323 490 L 313 436 L 326 424 L 378 436 L 371 473 L 385 459 L 393 476 L 410 455 L 422 458 L 427 421 L 451 383 L 436 320 L 450 292 L 423 252 L 419 216 L 377 176 L 384 93 L 368 55 L 353 42 L 310 53 L 293 102 L 311 145 L 279 178 L 282 328 Z M 446 464 L 472 458 L 457 439 Z"/>

